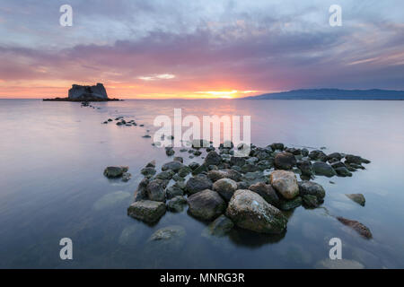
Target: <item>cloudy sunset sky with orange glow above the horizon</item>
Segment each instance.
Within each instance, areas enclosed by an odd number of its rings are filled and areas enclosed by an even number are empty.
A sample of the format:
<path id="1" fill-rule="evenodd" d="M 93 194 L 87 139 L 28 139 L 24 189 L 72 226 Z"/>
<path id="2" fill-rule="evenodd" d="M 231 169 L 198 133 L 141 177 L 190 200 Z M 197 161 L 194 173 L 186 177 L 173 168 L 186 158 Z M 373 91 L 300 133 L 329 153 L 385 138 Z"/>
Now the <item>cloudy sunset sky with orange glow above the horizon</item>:
<path id="1" fill-rule="evenodd" d="M 402 0 L 1 0 L 0 98 L 66 97 L 73 83 L 120 99 L 404 90 L 403 12 Z"/>

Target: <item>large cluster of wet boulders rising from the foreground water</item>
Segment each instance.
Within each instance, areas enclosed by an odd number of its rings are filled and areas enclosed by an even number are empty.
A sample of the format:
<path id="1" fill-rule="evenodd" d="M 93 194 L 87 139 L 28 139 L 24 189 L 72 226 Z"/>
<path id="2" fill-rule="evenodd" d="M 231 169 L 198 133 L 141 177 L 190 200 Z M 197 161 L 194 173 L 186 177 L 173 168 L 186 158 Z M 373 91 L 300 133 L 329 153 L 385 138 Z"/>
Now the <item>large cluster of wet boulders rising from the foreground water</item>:
<path id="1" fill-rule="evenodd" d="M 166 209 L 178 213 L 189 205 L 189 215 L 211 222 L 206 228 L 209 235 L 223 236 L 233 225 L 260 233 L 283 233 L 288 214 L 284 212 L 299 206 L 317 208 L 324 203 L 326 191 L 313 178 L 345 177 L 347 170 L 363 170 L 362 164 L 370 162 L 356 155 L 327 155 L 321 150 L 309 152 L 283 143 L 263 148 L 251 144 L 248 156 L 236 157 L 233 143 L 218 148 L 209 144 L 212 143 L 186 150 L 192 157 L 198 152 L 200 163 L 187 163 L 183 157 L 172 156 L 174 149 L 166 147 L 165 152 L 173 161 L 163 163 L 160 172 L 155 161 L 141 169 L 145 178 L 140 181 L 135 203 L 127 213 L 144 222 L 157 222 Z M 115 170 L 111 171 L 115 174 Z M 359 196 L 355 197 L 362 202 Z M 360 222 L 342 217 L 338 221 L 365 238 L 372 237 Z"/>

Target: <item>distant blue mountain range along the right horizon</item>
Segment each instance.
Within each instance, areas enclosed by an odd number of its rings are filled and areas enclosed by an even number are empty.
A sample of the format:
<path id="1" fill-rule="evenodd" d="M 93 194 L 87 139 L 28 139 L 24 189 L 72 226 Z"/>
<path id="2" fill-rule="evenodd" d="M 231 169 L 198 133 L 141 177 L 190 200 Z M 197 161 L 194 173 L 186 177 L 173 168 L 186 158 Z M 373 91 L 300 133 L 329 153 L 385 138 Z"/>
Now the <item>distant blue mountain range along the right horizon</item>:
<path id="1" fill-rule="evenodd" d="M 265 93 L 249 100 L 404 100 L 404 91 L 303 89 Z"/>

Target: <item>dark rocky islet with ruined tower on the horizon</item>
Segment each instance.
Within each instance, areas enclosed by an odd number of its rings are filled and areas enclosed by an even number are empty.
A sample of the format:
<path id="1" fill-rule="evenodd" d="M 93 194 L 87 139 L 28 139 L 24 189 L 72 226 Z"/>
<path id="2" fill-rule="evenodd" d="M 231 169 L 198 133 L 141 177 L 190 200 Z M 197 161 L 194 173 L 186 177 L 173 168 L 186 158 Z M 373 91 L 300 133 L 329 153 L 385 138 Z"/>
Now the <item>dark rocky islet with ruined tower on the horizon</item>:
<path id="1" fill-rule="evenodd" d="M 110 99 L 102 83 L 93 86 L 73 84 L 67 98 L 43 99 L 49 101 L 109 101 Z"/>

